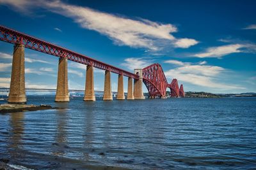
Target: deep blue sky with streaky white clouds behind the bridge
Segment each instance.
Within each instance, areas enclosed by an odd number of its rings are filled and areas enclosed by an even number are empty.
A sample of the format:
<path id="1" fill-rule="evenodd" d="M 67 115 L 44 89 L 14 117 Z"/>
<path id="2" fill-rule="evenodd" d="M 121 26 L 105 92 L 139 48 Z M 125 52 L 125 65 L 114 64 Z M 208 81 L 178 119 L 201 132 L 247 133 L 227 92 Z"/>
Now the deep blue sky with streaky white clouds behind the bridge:
<path id="1" fill-rule="evenodd" d="M 159 63 L 185 91 L 256 92 L 255 7 L 256 1 L 0 0 L 0 24 L 131 72 Z M 0 41 L 0 87 L 10 86 L 12 52 Z M 58 57 L 29 49 L 25 57 L 26 87 L 55 89 Z M 68 61 L 69 89 L 84 89 L 85 68 Z M 94 77 L 95 90 L 103 90 L 104 71 L 95 69 Z M 116 74 L 111 81 L 116 90 Z M 124 85 L 126 91 L 127 78 Z"/>

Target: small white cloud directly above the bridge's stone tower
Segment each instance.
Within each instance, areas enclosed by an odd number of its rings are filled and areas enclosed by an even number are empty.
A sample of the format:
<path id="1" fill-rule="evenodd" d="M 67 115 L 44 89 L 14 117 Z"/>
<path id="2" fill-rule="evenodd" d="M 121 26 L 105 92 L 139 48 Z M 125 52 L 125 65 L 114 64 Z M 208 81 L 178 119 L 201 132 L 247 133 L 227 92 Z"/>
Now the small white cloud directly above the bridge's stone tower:
<path id="1" fill-rule="evenodd" d="M 151 62 L 152 60 L 143 60 L 143 58 L 127 58 L 121 65 L 133 71 L 134 69 L 143 69 L 152 64 Z"/>

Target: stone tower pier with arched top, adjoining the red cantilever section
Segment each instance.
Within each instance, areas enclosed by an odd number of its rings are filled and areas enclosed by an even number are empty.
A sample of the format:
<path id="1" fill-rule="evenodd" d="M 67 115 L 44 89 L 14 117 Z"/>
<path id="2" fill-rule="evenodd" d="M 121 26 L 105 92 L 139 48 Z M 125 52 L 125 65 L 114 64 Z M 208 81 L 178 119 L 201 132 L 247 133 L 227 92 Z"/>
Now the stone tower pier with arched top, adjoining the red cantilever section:
<path id="1" fill-rule="evenodd" d="M 142 69 L 134 69 L 134 74 L 139 74 L 140 79 L 135 80 L 134 79 L 134 99 L 145 99 L 145 96 L 143 95 L 143 90 L 142 90 L 142 83 L 143 83 L 143 77 L 142 77 Z"/>

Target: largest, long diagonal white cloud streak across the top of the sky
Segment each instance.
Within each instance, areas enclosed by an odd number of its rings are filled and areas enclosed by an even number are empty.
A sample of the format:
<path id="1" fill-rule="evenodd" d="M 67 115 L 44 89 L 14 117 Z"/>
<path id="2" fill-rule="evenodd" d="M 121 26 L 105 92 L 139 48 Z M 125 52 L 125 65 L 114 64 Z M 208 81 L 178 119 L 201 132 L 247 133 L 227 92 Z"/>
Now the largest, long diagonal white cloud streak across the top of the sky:
<path id="1" fill-rule="evenodd" d="M 21 3 L 22 1 L 23 3 Z M 198 41 L 189 38 L 175 38 L 172 33 L 177 27 L 172 24 L 160 24 L 145 19 L 131 19 L 104 13 L 91 8 L 66 4 L 61 1 L 29 1 L 1 0 L 2 4 L 9 4 L 24 12 L 24 8 L 38 7 L 72 18 L 74 22 L 84 29 L 90 29 L 108 36 L 117 45 L 127 45 L 133 48 L 147 48 L 152 51 L 167 48 L 188 48 L 196 45 Z M 169 43 L 165 43 L 168 41 Z M 162 43 L 161 43 L 162 42 Z"/>

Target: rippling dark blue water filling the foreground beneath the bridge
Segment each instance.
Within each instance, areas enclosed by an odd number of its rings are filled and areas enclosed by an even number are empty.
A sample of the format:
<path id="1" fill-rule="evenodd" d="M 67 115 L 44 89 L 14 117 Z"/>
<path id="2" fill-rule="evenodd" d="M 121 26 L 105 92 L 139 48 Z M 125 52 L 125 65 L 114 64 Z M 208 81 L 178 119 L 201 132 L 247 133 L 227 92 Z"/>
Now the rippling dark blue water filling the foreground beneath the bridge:
<path id="1" fill-rule="evenodd" d="M 256 98 L 31 104 L 63 110 L 0 114 L 0 159 L 31 169 L 250 169 Z M 2 101 L 1 101 L 2 102 Z M 2 102 L 3 103 L 3 102 Z"/>

